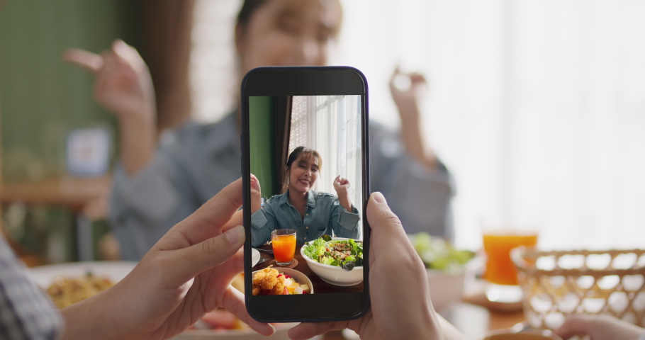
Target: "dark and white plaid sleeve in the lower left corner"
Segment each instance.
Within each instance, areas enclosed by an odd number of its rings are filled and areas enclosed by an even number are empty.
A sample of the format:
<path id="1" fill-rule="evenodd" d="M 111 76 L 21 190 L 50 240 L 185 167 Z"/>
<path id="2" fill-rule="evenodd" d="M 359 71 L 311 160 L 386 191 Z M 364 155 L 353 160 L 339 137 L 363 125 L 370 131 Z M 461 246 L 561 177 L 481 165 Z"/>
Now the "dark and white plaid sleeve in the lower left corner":
<path id="1" fill-rule="evenodd" d="M 57 339 L 63 319 L 0 235 L 0 339 Z"/>

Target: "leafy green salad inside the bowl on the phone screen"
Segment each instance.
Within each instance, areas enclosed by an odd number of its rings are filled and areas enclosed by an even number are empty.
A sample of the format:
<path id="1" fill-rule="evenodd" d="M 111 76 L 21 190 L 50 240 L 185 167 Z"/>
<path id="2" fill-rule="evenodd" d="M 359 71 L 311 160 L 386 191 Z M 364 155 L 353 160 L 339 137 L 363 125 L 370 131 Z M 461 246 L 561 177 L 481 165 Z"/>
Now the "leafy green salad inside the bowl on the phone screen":
<path id="1" fill-rule="evenodd" d="M 313 242 L 306 242 L 303 253 L 313 261 L 341 267 L 344 271 L 363 266 L 363 242 L 354 239 L 332 239 L 322 235 Z"/>

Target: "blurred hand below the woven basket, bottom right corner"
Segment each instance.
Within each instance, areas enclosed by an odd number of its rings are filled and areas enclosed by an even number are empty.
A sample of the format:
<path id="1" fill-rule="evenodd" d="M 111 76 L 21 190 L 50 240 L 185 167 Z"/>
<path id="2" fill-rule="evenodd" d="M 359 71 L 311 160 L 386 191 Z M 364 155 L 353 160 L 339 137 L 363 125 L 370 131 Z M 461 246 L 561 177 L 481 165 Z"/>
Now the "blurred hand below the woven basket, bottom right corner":
<path id="1" fill-rule="evenodd" d="M 609 315 L 575 314 L 555 331 L 562 339 L 590 336 L 591 340 L 638 340 L 645 329 Z"/>

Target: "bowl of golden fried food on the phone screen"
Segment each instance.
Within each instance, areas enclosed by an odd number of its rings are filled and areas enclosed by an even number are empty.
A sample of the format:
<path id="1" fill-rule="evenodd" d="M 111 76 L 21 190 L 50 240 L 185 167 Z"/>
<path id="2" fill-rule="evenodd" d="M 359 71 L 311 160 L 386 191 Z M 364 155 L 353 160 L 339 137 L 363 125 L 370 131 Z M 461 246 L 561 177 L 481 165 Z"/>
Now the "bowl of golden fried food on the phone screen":
<path id="1" fill-rule="evenodd" d="M 267 268 L 253 272 L 253 295 L 313 294 L 309 278 L 295 269 Z"/>

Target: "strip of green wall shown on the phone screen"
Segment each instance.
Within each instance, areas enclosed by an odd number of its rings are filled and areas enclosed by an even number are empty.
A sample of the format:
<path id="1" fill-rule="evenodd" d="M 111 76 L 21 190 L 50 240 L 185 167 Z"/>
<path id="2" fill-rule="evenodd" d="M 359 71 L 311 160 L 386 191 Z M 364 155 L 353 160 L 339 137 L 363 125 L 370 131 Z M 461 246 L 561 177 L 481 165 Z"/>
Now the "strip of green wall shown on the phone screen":
<path id="1" fill-rule="evenodd" d="M 270 198 L 279 193 L 276 178 L 276 147 L 274 97 L 249 97 L 250 166 L 262 186 L 262 196 Z"/>

